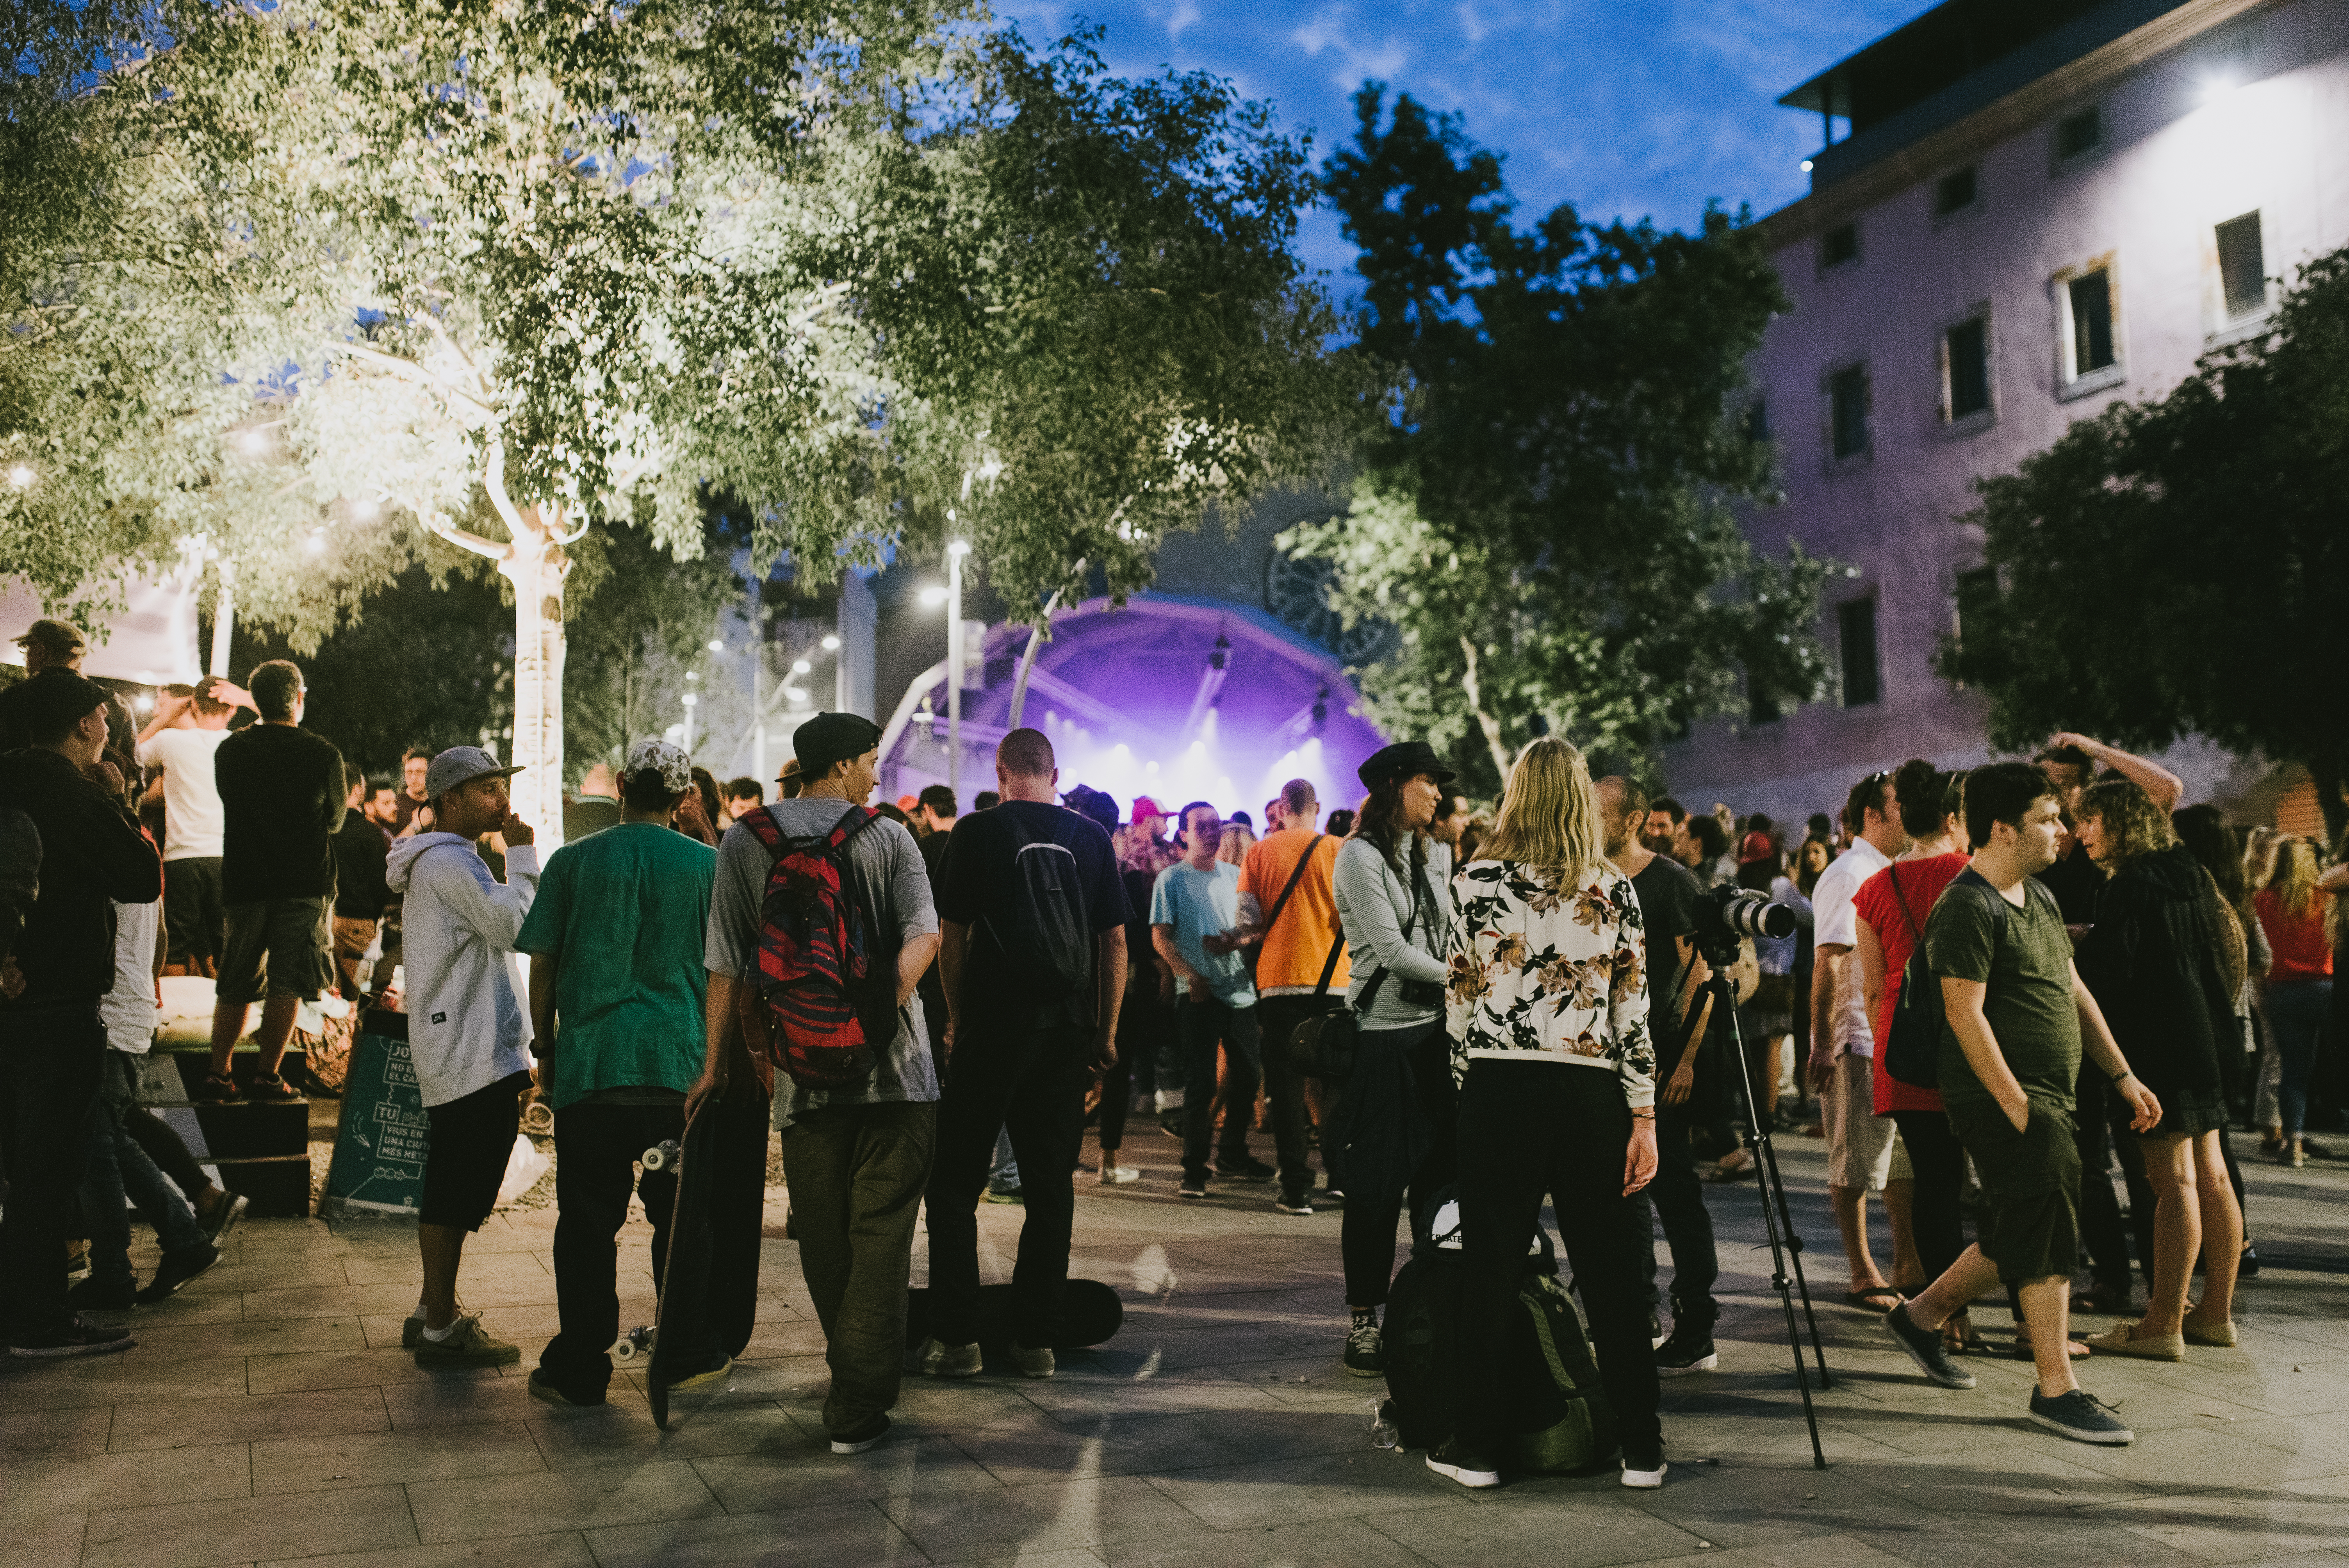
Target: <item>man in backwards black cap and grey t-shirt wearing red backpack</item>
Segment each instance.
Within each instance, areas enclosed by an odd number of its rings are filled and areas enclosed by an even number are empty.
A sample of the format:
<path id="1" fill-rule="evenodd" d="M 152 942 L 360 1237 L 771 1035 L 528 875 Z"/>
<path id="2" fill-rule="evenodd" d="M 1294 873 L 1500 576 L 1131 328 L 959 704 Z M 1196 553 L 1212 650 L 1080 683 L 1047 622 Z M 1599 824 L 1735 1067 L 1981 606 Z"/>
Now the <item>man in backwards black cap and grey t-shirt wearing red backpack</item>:
<path id="1" fill-rule="evenodd" d="M 759 972 L 766 885 L 775 850 L 759 836 L 766 819 L 787 845 L 824 840 L 879 782 L 881 725 L 857 714 L 817 714 L 792 735 L 801 791 L 742 817 L 719 843 L 709 901 L 707 1054 L 686 1115 L 728 1087 L 742 1035 L 738 1007 Z M 869 1040 L 871 1066 L 848 1087 L 810 1089 L 775 1073 L 775 1127 L 782 1174 L 792 1188 L 799 1268 L 824 1326 L 832 1392 L 824 1427 L 834 1453 L 864 1453 L 888 1434 L 904 1364 L 904 1284 L 914 1253 L 914 1216 L 930 1181 L 937 1141 L 937 1070 L 914 981 L 937 953 L 930 878 L 914 836 L 895 822 L 850 822 L 839 847 L 841 894 L 857 911 L 864 965 L 874 984 L 895 991 L 895 1030 Z M 688 1157 L 691 1160 L 691 1157 Z"/>

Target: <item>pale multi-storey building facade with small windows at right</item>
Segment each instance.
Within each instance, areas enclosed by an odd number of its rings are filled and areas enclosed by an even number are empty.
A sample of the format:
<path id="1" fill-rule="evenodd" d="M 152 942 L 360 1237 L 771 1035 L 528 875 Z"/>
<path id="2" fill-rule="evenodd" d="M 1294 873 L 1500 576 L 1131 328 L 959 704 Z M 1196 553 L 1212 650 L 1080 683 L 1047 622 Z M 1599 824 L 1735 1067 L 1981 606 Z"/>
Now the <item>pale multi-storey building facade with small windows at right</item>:
<path id="1" fill-rule="evenodd" d="M 1663 756 L 1691 805 L 1799 819 L 1907 756 L 1990 758 L 1987 702 L 1933 669 L 1997 592 L 1976 479 L 2166 394 L 2349 244 L 2349 2 L 1950 0 L 1781 103 L 1828 146 L 1811 195 L 1764 218 L 1792 307 L 1752 418 L 1785 500 L 1745 528 L 1844 563 L 1835 683 Z M 2262 775 L 2194 744 L 2166 761 L 2196 800 Z"/>

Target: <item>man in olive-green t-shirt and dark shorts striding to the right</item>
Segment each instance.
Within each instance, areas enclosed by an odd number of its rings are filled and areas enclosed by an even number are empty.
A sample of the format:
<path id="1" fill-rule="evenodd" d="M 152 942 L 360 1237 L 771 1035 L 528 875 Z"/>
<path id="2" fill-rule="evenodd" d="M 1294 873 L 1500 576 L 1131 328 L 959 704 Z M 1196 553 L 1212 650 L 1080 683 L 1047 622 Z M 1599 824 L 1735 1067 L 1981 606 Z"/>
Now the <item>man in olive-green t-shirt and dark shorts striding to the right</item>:
<path id="1" fill-rule="evenodd" d="M 1933 904 L 1926 967 L 1940 981 L 1936 1075 L 1950 1131 L 1983 1185 L 1976 1244 L 1884 1329 L 1940 1387 L 1973 1387 L 1940 1329 L 1992 1284 L 2020 1296 L 2039 1383 L 2030 1418 L 2081 1444 L 2135 1434 L 2072 1376 L 2072 1270 L 2079 1268 L 2079 1148 L 2072 1084 L 2081 1056 L 2128 1101 L 2131 1127 L 2161 1122 L 2161 1101 L 2128 1070 L 2095 995 L 2072 965 L 2062 911 L 2037 873 L 2055 864 L 2060 807 L 2030 763 L 1966 775 L 1973 857 Z"/>

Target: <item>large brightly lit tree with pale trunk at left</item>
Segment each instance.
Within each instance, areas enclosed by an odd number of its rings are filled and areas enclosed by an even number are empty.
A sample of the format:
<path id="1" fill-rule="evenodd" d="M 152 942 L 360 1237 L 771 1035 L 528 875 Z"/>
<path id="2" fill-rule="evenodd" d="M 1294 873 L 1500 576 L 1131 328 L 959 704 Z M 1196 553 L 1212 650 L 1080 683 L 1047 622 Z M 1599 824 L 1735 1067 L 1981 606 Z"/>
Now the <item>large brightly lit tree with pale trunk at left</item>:
<path id="1" fill-rule="evenodd" d="M 1299 160 L 1207 77 L 1034 63 L 956 0 L 162 0 L 94 49 L 49 77 L 73 178 L 7 192 L 66 211 L 0 270 L 42 329 L 0 563 L 61 599 L 202 545 L 315 638 L 420 523 L 512 584 L 540 831 L 599 519 L 693 556 L 735 495 L 815 580 L 975 502 L 1041 596 L 1294 460 Z"/>

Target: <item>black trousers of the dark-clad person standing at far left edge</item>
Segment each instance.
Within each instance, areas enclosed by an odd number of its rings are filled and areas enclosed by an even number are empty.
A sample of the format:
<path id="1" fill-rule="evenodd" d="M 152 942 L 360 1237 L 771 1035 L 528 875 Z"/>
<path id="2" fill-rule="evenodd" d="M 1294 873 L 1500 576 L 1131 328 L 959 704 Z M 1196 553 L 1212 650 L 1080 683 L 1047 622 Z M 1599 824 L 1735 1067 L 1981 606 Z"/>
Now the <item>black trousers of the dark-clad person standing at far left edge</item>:
<path id="1" fill-rule="evenodd" d="M 7 1216 L 0 1218 L 0 1329 L 12 1345 L 73 1324 L 66 1305 L 66 1232 L 89 1167 L 89 1108 L 106 1066 L 99 1005 L 61 1002 L 0 1012 L 0 1143 Z"/>

